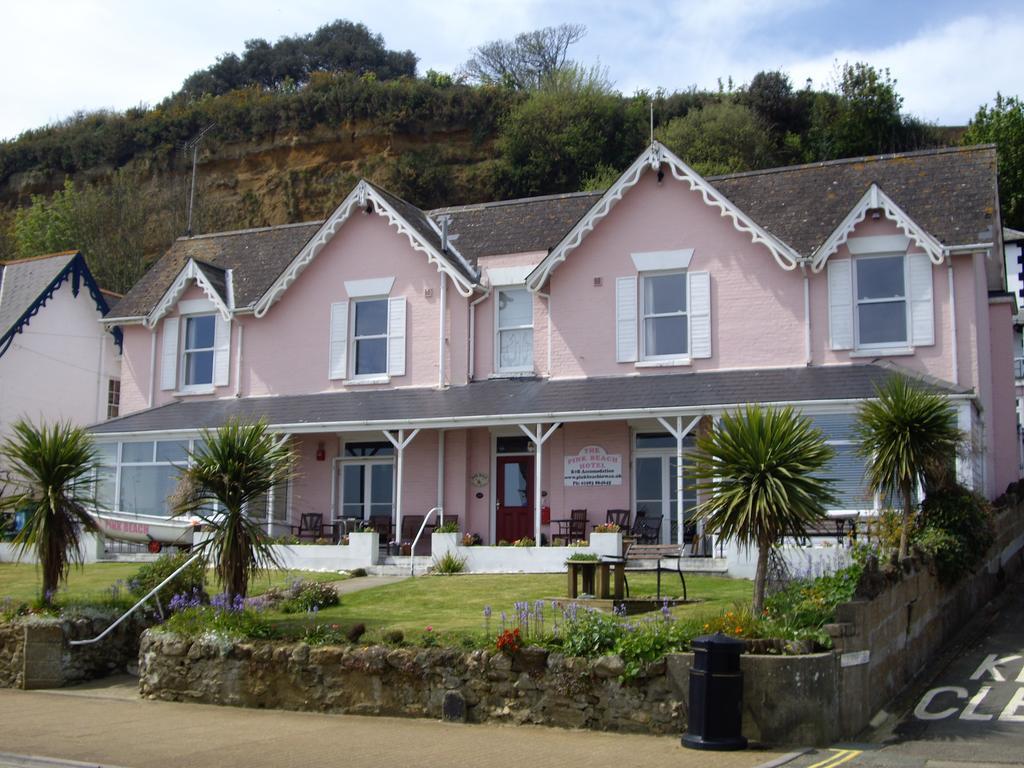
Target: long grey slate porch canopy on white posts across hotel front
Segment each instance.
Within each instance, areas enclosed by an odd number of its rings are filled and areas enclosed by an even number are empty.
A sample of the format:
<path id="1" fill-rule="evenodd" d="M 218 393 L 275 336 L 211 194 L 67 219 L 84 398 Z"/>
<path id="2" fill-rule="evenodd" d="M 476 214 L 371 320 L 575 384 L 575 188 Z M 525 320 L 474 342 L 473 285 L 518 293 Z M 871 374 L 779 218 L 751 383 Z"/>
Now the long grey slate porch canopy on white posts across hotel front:
<path id="1" fill-rule="evenodd" d="M 263 419 L 274 431 L 311 434 L 380 430 L 402 453 L 421 429 L 517 426 L 535 444 L 538 463 L 545 440 L 561 423 L 618 419 L 658 419 L 681 453 L 696 417 L 717 416 L 745 402 L 853 404 L 874 396 L 877 387 L 897 372 L 885 362 L 687 374 L 597 377 L 590 379 L 490 379 L 446 389 L 376 389 L 318 394 L 182 399 L 94 425 L 99 438 L 190 437 L 230 419 Z M 921 377 L 923 386 L 955 399 L 969 399 L 969 388 Z M 535 530 L 541 523 L 541 473 L 535 473 Z M 681 473 L 677 494 L 682 495 Z M 681 498 L 677 511 L 681 514 Z M 401 521 L 401 495 L 395 500 L 395 523 Z M 400 528 L 397 528 L 400 529 Z M 678 526 L 682 537 L 682 524 Z M 540 539 L 538 538 L 538 542 Z"/>

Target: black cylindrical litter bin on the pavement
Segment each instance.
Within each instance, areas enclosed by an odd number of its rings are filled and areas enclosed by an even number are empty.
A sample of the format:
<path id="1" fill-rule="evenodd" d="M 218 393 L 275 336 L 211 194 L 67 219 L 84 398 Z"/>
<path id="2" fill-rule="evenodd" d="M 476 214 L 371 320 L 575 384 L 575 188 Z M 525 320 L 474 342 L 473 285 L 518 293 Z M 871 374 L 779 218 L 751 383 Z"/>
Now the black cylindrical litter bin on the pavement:
<path id="1" fill-rule="evenodd" d="M 743 673 L 739 654 L 744 644 L 721 632 L 693 640 L 690 669 L 690 718 L 683 746 L 691 750 L 745 750 Z"/>

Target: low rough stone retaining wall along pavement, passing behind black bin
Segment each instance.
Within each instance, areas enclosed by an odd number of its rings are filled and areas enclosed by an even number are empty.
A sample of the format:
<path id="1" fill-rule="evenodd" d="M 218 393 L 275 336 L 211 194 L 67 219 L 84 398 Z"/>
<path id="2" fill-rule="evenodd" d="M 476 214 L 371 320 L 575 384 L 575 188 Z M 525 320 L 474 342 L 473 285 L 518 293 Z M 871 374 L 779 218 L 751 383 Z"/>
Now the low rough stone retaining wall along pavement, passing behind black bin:
<path id="1" fill-rule="evenodd" d="M 690 653 L 672 654 L 621 683 L 618 656 L 218 644 L 151 631 L 142 638 L 139 688 L 148 698 L 175 701 L 682 734 L 692 660 Z M 837 716 L 831 653 L 741 662 L 748 737 L 827 741 Z"/>

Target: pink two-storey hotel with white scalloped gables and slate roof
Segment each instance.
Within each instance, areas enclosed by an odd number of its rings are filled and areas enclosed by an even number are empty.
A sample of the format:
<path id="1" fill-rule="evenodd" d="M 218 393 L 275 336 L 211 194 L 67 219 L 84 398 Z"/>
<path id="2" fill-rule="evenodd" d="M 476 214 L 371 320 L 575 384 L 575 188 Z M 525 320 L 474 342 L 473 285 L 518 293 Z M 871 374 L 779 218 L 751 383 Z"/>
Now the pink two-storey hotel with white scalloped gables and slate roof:
<path id="1" fill-rule="evenodd" d="M 753 401 L 811 416 L 863 512 L 853 415 L 897 371 L 955 406 L 961 479 L 994 497 L 1019 453 L 1000 237 L 993 146 L 703 178 L 655 142 L 603 194 L 433 211 L 360 181 L 324 221 L 179 239 L 113 308 L 104 502 L 164 514 L 201 430 L 262 418 L 300 457 L 251 511 L 275 534 L 408 539 L 442 507 L 496 544 L 629 509 L 676 541 L 694 435 Z"/>

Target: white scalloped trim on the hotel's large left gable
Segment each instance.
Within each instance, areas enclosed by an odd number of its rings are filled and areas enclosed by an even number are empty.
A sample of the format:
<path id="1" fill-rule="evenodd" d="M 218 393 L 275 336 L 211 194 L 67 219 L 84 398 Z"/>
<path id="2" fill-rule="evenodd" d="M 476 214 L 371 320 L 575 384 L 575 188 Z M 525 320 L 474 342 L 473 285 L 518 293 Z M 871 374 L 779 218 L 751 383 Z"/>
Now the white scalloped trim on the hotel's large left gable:
<path id="1" fill-rule="evenodd" d="M 373 205 L 373 213 L 383 216 L 399 234 L 404 234 L 409 239 L 409 244 L 414 251 L 426 254 L 428 263 L 435 264 L 438 272 L 447 274 L 452 279 L 456 290 L 462 296 L 468 298 L 473 294 L 473 283 L 465 274 L 456 269 L 446 256 L 424 240 L 423 236 L 404 217 L 388 205 L 387 201 L 373 186 L 366 181 L 359 181 L 342 204 L 334 210 L 334 213 L 316 230 L 316 233 L 302 247 L 298 255 L 292 259 L 292 263 L 278 276 L 273 285 L 259 298 L 254 308 L 255 315 L 262 317 L 266 314 L 267 310 L 281 298 L 282 294 L 288 290 L 296 279 L 302 274 L 303 270 L 309 266 L 309 263 L 316 258 L 316 254 L 341 229 L 349 217 L 356 211 L 366 212 L 370 204 Z"/>

